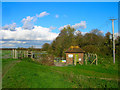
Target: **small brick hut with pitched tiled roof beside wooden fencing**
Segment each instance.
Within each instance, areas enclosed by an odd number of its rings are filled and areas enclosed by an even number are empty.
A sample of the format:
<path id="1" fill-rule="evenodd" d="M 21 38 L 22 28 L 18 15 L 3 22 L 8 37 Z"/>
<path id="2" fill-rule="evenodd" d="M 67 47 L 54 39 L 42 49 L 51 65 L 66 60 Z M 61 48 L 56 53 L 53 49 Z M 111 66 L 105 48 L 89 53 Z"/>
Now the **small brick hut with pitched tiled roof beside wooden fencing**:
<path id="1" fill-rule="evenodd" d="M 83 64 L 84 62 L 84 50 L 82 50 L 79 46 L 71 46 L 66 53 L 66 64 L 74 64 L 76 65 L 77 62 L 79 64 Z"/>

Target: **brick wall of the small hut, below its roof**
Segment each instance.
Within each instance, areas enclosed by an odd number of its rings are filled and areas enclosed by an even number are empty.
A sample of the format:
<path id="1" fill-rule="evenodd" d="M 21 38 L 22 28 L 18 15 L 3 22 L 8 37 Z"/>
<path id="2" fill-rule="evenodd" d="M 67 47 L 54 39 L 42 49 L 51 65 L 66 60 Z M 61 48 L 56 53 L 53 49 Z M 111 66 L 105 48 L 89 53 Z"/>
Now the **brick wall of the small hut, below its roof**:
<path id="1" fill-rule="evenodd" d="M 72 54 L 73 57 L 72 58 L 68 57 L 69 54 Z M 78 59 L 81 58 L 80 63 L 83 64 L 84 63 L 84 59 L 83 59 L 84 53 L 66 53 L 66 63 L 73 64 L 73 60 L 75 59 L 76 54 L 78 54 Z"/>

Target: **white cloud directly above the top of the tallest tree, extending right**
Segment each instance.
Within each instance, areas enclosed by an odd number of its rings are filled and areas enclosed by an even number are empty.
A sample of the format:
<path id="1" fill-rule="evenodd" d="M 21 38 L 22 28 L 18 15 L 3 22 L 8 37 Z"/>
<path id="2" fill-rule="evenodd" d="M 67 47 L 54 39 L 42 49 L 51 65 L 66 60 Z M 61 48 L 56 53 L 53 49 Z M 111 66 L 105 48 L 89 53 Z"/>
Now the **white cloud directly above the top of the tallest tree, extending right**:
<path id="1" fill-rule="evenodd" d="M 64 26 L 60 27 L 59 30 L 62 30 L 63 28 L 67 28 L 67 26 L 68 25 L 64 25 Z M 75 25 L 72 25 L 71 27 L 75 28 L 75 29 L 79 29 L 79 28 L 85 29 L 86 28 L 86 21 L 81 21 L 80 23 L 76 23 Z"/>

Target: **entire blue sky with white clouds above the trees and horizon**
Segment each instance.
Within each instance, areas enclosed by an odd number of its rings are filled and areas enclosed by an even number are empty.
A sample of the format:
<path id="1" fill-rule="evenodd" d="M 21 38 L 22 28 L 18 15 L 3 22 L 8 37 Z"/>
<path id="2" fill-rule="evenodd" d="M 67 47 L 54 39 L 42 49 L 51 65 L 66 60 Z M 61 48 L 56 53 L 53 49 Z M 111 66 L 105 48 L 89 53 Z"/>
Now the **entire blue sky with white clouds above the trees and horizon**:
<path id="1" fill-rule="evenodd" d="M 112 33 L 118 19 L 117 2 L 2 2 L 0 43 L 3 48 L 41 48 L 70 25 L 84 35 L 92 29 Z M 114 22 L 118 33 L 118 20 Z"/>

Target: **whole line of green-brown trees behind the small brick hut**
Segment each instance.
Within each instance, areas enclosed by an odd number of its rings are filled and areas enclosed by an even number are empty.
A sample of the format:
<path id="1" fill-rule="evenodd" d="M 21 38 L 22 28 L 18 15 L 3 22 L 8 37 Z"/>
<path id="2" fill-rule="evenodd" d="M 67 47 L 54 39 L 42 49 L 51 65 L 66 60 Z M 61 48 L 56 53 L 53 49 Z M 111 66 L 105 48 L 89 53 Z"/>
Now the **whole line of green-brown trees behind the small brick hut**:
<path id="1" fill-rule="evenodd" d="M 56 57 L 65 57 L 65 51 L 72 45 L 77 45 L 86 53 L 96 53 L 102 56 L 112 56 L 113 39 L 110 39 L 110 32 L 105 35 L 98 30 L 93 29 L 84 35 L 80 30 L 75 30 L 69 25 L 62 29 L 59 35 L 51 44 L 45 43 L 42 50 L 55 55 Z M 116 55 L 120 55 L 120 37 L 115 39 Z"/>

